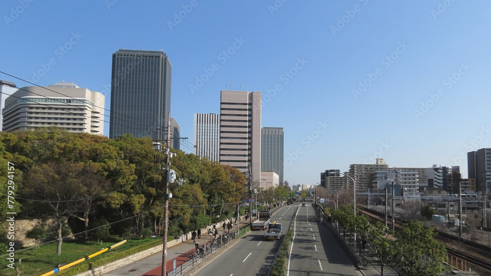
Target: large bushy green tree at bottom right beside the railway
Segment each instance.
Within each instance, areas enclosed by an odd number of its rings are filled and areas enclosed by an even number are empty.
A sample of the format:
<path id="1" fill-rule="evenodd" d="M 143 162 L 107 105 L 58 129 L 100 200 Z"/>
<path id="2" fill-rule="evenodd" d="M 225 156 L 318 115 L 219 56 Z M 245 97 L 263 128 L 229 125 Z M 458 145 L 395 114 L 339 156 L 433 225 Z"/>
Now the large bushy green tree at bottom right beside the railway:
<path id="1" fill-rule="evenodd" d="M 394 265 L 403 275 L 436 276 L 445 270 L 445 246 L 433 239 L 433 228 L 424 228 L 419 221 L 411 221 L 395 233 Z"/>

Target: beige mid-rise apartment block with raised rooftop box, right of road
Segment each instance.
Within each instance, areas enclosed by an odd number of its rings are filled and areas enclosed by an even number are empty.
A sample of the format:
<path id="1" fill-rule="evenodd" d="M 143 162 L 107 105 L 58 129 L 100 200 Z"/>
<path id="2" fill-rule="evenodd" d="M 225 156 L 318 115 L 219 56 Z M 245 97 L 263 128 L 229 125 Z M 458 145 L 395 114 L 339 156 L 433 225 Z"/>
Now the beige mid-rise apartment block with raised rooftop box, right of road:
<path id="1" fill-rule="evenodd" d="M 357 192 L 368 192 L 368 183 L 371 183 L 371 175 L 378 170 L 387 170 L 388 165 L 382 158 L 377 158 L 376 164 L 352 164 L 350 165 L 349 175 L 356 181 Z M 353 185 L 353 180 L 349 179 L 348 186 Z"/>

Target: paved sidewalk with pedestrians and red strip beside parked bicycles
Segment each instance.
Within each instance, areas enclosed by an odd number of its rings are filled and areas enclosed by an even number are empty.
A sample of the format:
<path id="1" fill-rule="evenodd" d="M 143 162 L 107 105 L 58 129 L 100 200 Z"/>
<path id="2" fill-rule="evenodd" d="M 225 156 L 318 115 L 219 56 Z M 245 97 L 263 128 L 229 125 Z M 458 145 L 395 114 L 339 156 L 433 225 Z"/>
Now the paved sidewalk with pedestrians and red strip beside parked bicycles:
<path id="1" fill-rule="evenodd" d="M 239 222 L 240 228 L 246 226 L 245 220 Z M 218 226 L 218 225 L 217 225 Z M 220 226 L 217 228 L 218 235 L 223 234 L 223 228 Z M 228 229 L 226 230 L 228 231 Z M 232 232 L 237 232 L 237 226 L 234 225 Z M 196 238 L 196 242 L 203 245 L 213 240 L 207 233 L 201 235 L 201 239 Z M 167 248 L 167 270 L 173 268 L 174 259 L 176 259 L 176 267 L 186 261 L 184 254 L 194 250 L 194 243 L 192 239 L 177 244 L 174 247 Z M 162 272 L 162 251 L 150 255 L 146 258 L 130 263 L 124 267 L 113 270 L 105 276 L 161 276 Z"/>

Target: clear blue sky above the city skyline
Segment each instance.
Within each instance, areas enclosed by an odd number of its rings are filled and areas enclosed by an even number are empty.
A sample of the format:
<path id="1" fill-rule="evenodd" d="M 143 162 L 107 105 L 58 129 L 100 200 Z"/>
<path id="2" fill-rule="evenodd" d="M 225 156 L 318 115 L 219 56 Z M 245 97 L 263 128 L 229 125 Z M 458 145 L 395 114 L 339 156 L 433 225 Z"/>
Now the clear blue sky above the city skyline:
<path id="1" fill-rule="evenodd" d="M 290 184 L 376 157 L 466 178 L 466 153 L 490 147 L 488 0 L 3 0 L 0 11 L 0 71 L 100 91 L 107 109 L 111 55 L 163 50 L 171 117 L 191 143 L 193 114 L 219 113 L 230 82 L 261 91 L 262 126 L 284 128 Z"/>

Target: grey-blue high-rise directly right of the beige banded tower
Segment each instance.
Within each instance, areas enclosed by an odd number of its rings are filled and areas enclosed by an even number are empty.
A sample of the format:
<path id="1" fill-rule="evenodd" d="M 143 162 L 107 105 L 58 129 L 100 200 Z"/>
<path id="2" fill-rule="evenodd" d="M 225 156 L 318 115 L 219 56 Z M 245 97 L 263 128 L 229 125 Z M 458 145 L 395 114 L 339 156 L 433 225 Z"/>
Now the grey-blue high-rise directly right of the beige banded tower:
<path id="1" fill-rule="evenodd" d="M 274 171 L 283 183 L 283 128 L 261 130 L 261 171 Z"/>

